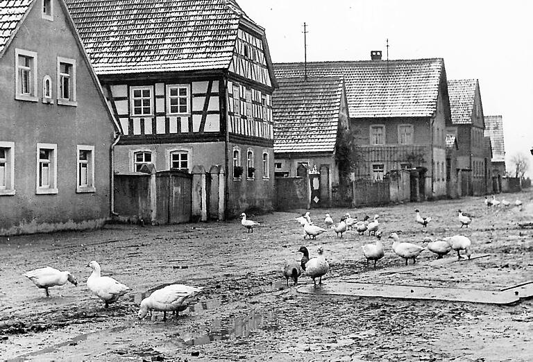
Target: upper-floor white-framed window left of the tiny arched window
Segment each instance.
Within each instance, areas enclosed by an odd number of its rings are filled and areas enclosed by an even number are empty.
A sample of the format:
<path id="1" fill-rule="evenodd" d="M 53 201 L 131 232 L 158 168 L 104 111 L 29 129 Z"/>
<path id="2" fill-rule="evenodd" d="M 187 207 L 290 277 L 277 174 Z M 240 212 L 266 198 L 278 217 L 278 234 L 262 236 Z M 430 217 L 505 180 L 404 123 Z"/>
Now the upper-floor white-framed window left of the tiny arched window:
<path id="1" fill-rule="evenodd" d="M 15 49 L 15 99 L 37 102 L 37 53 Z"/>

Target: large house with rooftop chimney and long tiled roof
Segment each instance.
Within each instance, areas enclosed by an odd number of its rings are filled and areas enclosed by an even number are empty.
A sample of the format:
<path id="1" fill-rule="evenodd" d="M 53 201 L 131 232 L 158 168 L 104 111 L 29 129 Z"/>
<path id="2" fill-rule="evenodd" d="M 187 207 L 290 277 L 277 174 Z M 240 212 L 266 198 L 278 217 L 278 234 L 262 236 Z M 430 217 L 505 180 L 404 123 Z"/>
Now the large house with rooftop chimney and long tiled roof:
<path id="1" fill-rule="evenodd" d="M 421 199 L 446 196 L 446 122 L 450 106 L 442 59 L 310 62 L 311 76 L 343 76 L 350 128 L 362 153 L 355 178 L 382 180 L 395 169 L 418 173 Z M 303 63 L 274 65 L 301 76 Z"/>

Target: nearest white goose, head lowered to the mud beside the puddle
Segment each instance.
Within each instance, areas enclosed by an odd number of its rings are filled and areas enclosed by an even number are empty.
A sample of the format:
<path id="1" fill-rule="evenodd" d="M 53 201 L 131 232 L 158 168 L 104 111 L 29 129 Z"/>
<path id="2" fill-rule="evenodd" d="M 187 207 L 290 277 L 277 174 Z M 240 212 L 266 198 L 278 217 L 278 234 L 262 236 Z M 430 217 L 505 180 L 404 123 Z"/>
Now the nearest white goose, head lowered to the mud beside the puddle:
<path id="1" fill-rule="evenodd" d="M 185 311 L 191 302 L 196 300 L 198 293 L 203 288 L 188 286 L 185 284 L 171 284 L 153 291 L 148 298 L 141 302 L 138 317 L 142 319 L 148 311 L 162 311 L 163 320 L 167 320 L 167 311 L 172 311 L 179 315 L 180 311 Z"/>

